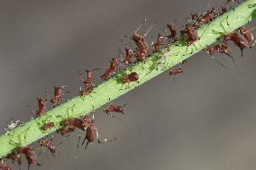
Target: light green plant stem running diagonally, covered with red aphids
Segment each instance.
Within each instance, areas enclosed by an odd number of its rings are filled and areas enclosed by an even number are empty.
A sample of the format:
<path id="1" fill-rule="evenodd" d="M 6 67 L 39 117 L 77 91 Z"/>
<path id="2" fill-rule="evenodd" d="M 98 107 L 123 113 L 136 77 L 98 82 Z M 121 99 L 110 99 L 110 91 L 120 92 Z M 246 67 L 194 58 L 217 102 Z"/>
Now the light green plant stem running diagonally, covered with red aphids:
<path id="1" fill-rule="evenodd" d="M 191 46 L 187 47 L 185 40 L 180 39 L 175 44 L 170 45 L 169 50 L 162 49 L 160 52 L 153 53 L 145 61 L 137 63 L 133 67 L 128 67 L 123 73 L 98 85 L 93 93 L 85 97 L 77 96 L 46 112 L 43 116 L 32 119 L 23 126 L 11 130 L 8 134 L 3 134 L 0 137 L 0 158 L 5 157 L 18 147 L 27 146 L 58 130 L 61 127 L 61 122 L 65 119 L 86 115 L 118 96 L 133 90 L 136 86 L 142 85 L 154 76 L 160 75 L 170 67 L 214 43 L 224 33 L 235 31 L 250 22 L 256 15 L 255 4 L 256 0 L 247 0 L 234 10 L 232 9 L 228 13 L 219 16 L 215 21 L 206 24 L 197 31 L 200 40 L 197 40 Z M 123 85 L 120 82 L 121 77 L 130 72 L 139 74 L 138 82 Z M 55 126 L 50 130 L 41 130 L 42 126 L 49 121 L 53 121 Z"/>

